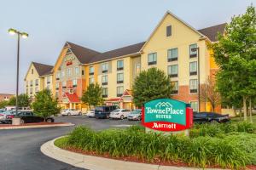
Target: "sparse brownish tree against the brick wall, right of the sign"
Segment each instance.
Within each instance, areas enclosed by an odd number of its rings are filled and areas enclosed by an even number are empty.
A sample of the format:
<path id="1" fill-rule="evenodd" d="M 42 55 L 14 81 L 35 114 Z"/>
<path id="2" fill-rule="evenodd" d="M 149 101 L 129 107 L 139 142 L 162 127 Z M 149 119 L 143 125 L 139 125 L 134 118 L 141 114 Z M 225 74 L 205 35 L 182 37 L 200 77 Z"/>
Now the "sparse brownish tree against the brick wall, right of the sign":
<path id="1" fill-rule="evenodd" d="M 214 77 L 207 77 L 205 86 L 201 86 L 201 101 L 210 102 L 212 110 L 215 111 L 217 105 L 220 104 L 220 94 L 216 90 Z"/>

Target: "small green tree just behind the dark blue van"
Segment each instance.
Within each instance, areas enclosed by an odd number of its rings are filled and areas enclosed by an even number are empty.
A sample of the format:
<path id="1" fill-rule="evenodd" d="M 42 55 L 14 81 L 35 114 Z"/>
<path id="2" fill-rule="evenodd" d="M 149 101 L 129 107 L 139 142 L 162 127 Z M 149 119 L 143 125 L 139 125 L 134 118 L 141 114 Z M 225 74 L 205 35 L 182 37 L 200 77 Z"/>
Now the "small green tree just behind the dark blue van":
<path id="1" fill-rule="evenodd" d="M 86 91 L 84 91 L 81 100 L 84 104 L 89 105 L 89 108 L 91 105 L 94 107 L 96 105 L 102 105 L 102 88 L 98 83 L 90 84 Z"/>

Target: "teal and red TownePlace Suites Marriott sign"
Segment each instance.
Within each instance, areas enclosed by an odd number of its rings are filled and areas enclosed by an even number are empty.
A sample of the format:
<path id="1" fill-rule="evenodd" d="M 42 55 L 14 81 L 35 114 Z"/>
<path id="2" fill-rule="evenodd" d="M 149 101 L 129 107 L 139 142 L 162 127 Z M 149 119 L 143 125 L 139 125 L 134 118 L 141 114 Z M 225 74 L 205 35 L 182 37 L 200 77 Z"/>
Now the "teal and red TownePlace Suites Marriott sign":
<path id="1" fill-rule="evenodd" d="M 143 107 L 143 126 L 159 131 L 181 131 L 193 124 L 188 104 L 175 99 L 154 99 Z"/>

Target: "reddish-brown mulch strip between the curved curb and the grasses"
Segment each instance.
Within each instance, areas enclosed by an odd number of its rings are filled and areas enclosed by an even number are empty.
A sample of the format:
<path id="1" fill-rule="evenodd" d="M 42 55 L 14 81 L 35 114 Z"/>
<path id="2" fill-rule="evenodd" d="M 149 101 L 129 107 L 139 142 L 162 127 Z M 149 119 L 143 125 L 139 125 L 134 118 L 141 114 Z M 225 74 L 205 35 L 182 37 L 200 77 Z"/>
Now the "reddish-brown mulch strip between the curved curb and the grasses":
<path id="1" fill-rule="evenodd" d="M 112 157 L 108 153 L 104 153 L 102 155 L 97 154 L 96 152 L 93 151 L 85 151 L 81 149 L 76 149 L 73 147 L 66 147 L 62 148 L 64 150 L 69 150 L 72 152 L 80 153 L 83 155 L 88 155 L 88 156 L 99 156 L 99 157 L 104 157 L 104 158 L 109 158 L 109 159 L 114 159 L 114 160 L 119 160 L 119 161 L 134 161 L 137 163 L 149 163 L 149 164 L 154 164 L 154 165 L 161 165 L 161 166 L 174 166 L 174 167 L 191 167 L 189 164 L 183 162 L 183 161 L 162 161 L 159 158 L 155 158 L 154 161 L 147 161 L 145 159 L 139 158 L 137 156 L 125 156 L 125 157 Z M 222 168 L 219 166 L 207 166 L 207 168 Z M 247 169 L 253 169 L 256 170 L 255 165 L 250 165 L 247 166 Z"/>

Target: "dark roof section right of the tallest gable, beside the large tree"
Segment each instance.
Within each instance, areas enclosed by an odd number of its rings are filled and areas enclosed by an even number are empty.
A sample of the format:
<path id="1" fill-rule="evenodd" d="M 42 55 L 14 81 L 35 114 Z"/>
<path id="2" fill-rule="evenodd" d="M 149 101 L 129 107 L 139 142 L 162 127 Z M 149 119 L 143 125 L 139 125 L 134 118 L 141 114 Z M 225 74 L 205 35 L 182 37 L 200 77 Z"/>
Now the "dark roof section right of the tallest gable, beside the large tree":
<path id="1" fill-rule="evenodd" d="M 210 26 L 207 28 L 203 28 L 200 31 L 203 35 L 207 36 L 212 42 L 217 42 L 218 41 L 218 32 L 223 34 L 224 33 L 224 28 L 227 25 L 227 23 L 219 24 L 217 26 Z"/>

